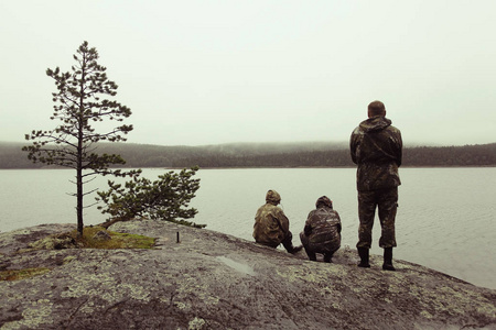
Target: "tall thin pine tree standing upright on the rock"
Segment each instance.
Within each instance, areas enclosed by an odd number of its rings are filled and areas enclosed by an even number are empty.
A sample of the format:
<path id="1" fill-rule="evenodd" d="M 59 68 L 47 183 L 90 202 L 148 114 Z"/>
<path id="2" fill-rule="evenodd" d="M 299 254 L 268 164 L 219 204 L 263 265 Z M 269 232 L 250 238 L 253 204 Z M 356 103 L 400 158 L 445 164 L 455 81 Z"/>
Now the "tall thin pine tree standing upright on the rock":
<path id="1" fill-rule="evenodd" d="M 54 112 L 52 120 L 60 120 L 52 131 L 32 131 L 25 134 L 25 140 L 33 141 L 32 145 L 22 150 L 29 152 L 28 158 L 34 163 L 58 165 L 76 169 L 77 198 L 77 231 L 83 234 L 83 197 L 84 184 L 95 175 L 133 175 L 134 172 L 123 173 L 109 169 L 112 164 L 125 164 L 122 157 L 116 154 L 97 154 L 96 143 L 100 141 L 126 141 L 125 134 L 132 130 L 132 125 L 121 124 L 109 129 L 105 133 L 97 132 L 95 125 L 104 120 L 121 122 L 131 116 L 131 110 L 114 100 L 118 86 L 106 75 L 106 67 L 98 64 L 96 48 L 89 48 L 84 42 L 74 55 L 76 64 L 71 72 L 61 73 L 56 67 L 47 69 L 46 75 L 55 80 L 57 88 L 53 92 Z"/>

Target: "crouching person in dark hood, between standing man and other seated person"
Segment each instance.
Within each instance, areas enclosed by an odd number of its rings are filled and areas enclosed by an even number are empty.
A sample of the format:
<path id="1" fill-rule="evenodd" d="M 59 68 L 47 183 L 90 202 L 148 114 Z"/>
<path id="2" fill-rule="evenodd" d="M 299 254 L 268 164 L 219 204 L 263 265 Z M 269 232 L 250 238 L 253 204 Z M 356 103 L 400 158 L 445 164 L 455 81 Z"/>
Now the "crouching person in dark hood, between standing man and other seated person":
<path id="1" fill-rule="evenodd" d="M 311 261 L 316 261 L 316 253 L 322 253 L 324 261 L 330 263 L 341 246 L 339 215 L 333 210 L 333 202 L 326 196 L 319 198 L 315 207 L 306 218 L 300 240 Z"/>

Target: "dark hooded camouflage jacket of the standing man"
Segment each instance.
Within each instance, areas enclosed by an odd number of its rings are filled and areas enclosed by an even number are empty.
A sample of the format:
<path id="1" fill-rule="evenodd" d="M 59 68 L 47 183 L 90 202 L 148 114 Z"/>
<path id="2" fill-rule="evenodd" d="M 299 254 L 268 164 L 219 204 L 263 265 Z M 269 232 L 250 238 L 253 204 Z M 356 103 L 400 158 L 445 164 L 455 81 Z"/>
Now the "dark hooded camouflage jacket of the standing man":
<path id="1" fill-rule="evenodd" d="M 398 187 L 401 182 L 401 132 L 385 117 L 363 121 L 349 140 L 352 160 L 358 165 L 357 189 L 369 191 Z"/>

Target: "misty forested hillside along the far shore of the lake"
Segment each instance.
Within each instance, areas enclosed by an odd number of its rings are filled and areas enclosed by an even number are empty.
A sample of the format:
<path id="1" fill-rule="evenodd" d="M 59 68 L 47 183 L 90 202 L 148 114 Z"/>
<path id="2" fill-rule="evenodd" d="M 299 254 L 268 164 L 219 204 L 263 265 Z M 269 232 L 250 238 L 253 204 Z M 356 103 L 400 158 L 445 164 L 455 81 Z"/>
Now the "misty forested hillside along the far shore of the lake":
<path id="1" fill-rule="evenodd" d="M 0 142 L 0 168 L 40 168 L 25 143 Z M 127 167 L 342 167 L 355 166 L 347 143 L 238 143 L 161 146 L 103 143 L 99 153 L 120 154 Z M 496 143 L 465 146 L 417 146 L 403 150 L 402 166 L 496 166 Z"/>

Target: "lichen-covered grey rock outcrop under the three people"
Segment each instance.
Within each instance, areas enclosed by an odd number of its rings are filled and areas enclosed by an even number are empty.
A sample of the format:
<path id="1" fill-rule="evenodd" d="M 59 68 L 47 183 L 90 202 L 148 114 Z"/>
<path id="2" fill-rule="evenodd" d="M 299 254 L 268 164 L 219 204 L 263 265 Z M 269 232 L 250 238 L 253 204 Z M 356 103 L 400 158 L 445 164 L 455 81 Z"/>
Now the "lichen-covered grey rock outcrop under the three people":
<path id="1" fill-rule="evenodd" d="M 110 230 L 158 238 L 152 250 L 22 251 L 39 226 L 0 233 L 0 271 L 48 272 L 0 282 L 1 329 L 496 329 L 496 290 L 395 261 L 397 272 L 310 262 L 227 234 L 169 222 Z M 180 242 L 177 242 L 177 233 Z"/>

